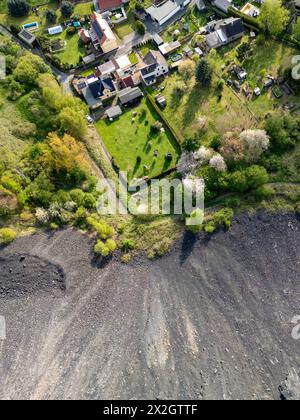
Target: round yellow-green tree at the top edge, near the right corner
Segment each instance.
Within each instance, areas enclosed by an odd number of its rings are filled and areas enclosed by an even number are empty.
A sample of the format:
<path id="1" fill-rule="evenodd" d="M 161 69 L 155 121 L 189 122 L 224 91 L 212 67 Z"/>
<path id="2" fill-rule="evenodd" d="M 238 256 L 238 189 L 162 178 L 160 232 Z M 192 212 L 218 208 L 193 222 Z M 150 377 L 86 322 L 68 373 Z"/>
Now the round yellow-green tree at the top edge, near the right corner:
<path id="1" fill-rule="evenodd" d="M 287 27 L 289 12 L 282 0 L 265 0 L 261 8 L 259 22 L 270 35 L 279 35 Z"/>

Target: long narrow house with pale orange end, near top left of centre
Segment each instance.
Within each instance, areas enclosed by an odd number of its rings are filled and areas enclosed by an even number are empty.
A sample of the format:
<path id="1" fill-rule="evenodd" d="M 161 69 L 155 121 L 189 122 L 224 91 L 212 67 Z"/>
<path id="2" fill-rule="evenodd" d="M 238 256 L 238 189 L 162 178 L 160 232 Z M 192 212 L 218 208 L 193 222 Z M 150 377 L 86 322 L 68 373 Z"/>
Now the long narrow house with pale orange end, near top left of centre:
<path id="1" fill-rule="evenodd" d="M 107 20 L 103 19 L 100 13 L 94 12 L 91 16 L 91 23 L 90 37 L 94 47 L 102 50 L 104 54 L 117 50 L 119 47 L 117 38 Z"/>

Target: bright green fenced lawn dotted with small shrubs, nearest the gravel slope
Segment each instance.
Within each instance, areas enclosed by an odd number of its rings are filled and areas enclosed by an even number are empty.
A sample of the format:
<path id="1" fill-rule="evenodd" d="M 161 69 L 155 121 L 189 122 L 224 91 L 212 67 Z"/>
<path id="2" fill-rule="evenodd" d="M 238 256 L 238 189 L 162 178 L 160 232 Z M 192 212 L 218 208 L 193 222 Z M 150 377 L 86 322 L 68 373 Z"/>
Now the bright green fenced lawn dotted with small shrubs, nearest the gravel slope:
<path id="1" fill-rule="evenodd" d="M 133 113 L 137 115 L 133 117 Z M 135 119 L 132 121 L 132 119 Z M 156 113 L 149 108 L 146 99 L 137 108 L 126 110 L 116 121 L 100 120 L 96 129 L 114 161 L 123 171 L 128 171 L 128 177 L 155 177 L 175 167 L 179 148 L 172 135 L 166 132 L 152 134 L 151 125 L 158 120 Z M 157 158 L 154 152 L 158 151 Z M 171 152 L 173 160 L 165 159 Z M 137 163 L 140 156 L 141 162 Z M 148 170 L 144 170 L 147 165 Z"/>

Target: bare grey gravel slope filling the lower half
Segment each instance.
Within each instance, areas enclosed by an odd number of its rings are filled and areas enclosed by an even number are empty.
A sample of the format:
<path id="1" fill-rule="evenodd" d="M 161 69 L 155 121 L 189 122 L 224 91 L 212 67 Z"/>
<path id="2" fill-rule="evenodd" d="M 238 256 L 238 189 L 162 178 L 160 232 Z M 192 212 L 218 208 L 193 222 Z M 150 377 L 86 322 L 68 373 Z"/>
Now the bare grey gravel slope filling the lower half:
<path id="1" fill-rule="evenodd" d="M 106 266 L 74 230 L 17 240 L 0 253 L 0 398 L 278 399 L 299 371 L 299 229 L 243 216 L 155 262 Z"/>

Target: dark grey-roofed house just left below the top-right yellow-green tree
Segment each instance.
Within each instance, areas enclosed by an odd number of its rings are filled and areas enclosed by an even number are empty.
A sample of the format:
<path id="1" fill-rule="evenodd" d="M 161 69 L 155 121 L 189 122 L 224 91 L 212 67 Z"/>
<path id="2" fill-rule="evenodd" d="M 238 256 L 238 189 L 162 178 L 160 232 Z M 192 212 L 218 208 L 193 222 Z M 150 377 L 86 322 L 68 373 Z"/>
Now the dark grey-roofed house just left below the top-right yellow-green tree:
<path id="1" fill-rule="evenodd" d="M 227 45 L 230 42 L 242 38 L 245 33 L 242 19 L 233 17 L 211 22 L 207 25 L 207 30 L 209 33 L 205 39 L 209 49 Z"/>

